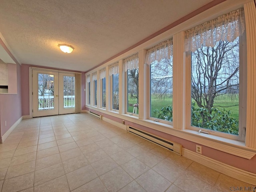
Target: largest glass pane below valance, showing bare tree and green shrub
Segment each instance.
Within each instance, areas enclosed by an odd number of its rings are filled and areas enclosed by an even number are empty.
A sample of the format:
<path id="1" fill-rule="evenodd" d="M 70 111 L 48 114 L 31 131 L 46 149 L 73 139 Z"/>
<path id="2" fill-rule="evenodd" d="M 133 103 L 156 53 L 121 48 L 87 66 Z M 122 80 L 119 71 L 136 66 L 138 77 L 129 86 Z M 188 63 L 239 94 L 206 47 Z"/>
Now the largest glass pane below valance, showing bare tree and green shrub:
<path id="1" fill-rule="evenodd" d="M 239 37 L 191 55 L 192 126 L 238 135 Z"/>

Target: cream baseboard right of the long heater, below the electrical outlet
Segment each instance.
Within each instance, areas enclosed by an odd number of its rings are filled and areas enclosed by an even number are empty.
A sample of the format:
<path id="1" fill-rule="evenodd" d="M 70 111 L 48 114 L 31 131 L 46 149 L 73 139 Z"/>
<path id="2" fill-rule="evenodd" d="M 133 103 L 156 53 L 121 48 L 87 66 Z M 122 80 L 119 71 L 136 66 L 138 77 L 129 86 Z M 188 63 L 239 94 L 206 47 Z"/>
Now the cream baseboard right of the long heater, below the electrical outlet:
<path id="1" fill-rule="evenodd" d="M 240 181 L 256 185 L 256 174 L 224 164 L 196 152 L 182 148 L 182 156 Z"/>

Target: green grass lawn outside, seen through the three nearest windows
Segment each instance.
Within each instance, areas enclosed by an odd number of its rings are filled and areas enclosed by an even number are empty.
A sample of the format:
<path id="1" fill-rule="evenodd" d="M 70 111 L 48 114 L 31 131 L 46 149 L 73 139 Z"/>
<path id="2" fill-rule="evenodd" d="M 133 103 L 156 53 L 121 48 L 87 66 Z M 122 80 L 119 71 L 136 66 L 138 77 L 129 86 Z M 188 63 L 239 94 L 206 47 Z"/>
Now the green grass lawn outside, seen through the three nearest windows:
<path id="1" fill-rule="evenodd" d="M 128 103 L 129 104 L 135 104 L 137 101 L 136 99 L 129 98 Z M 228 95 L 223 95 L 220 98 L 216 98 L 214 101 L 214 106 L 218 106 L 219 109 L 225 108 L 225 110 L 230 110 L 232 112 L 232 116 L 236 118 L 236 120 L 239 120 L 239 106 L 233 106 L 238 104 L 238 101 L 236 98 L 231 99 Z M 156 96 L 152 96 L 151 98 L 151 117 L 155 117 L 154 110 L 161 109 L 164 106 L 172 106 L 172 98 L 168 97 L 165 99 L 159 99 Z M 221 106 L 221 107 L 220 107 Z M 227 107 L 231 106 L 231 107 Z M 128 106 L 128 112 L 132 113 L 133 106 Z M 137 110 L 138 113 L 138 110 Z"/>

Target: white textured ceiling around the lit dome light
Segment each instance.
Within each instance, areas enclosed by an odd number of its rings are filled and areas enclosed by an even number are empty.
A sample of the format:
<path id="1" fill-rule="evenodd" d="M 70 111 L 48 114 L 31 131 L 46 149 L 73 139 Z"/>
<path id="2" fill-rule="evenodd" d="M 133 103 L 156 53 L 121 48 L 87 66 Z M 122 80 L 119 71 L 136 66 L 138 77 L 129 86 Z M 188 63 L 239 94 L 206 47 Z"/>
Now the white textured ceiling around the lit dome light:
<path id="1" fill-rule="evenodd" d="M 0 33 L 22 64 L 87 71 L 211 1 L 0 0 Z"/>

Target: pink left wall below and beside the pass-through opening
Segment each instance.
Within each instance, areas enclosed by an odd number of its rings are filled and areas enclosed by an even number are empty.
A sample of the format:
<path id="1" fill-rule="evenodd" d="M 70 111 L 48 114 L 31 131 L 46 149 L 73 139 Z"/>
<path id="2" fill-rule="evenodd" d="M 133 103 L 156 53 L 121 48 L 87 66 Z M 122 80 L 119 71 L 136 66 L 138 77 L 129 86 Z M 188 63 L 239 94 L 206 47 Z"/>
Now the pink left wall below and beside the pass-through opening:
<path id="1" fill-rule="evenodd" d="M 0 94 L 0 130 L 1 136 L 8 131 L 11 126 L 22 117 L 21 110 L 21 84 L 20 68 L 17 64 L 17 94 Z M 6 121 L 6 126 L 5 126 Z"/>

